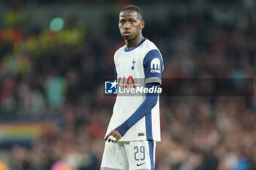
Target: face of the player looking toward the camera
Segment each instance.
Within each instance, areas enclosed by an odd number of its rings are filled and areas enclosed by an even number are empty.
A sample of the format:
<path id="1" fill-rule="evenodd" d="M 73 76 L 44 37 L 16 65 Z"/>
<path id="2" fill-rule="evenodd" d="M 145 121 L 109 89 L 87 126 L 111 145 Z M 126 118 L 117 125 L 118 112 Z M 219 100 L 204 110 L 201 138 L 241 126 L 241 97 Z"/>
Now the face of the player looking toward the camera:
<path id="1" fill-rule="evenodd" d="M 125 10 L 119 14 L 118 26 L 121 36 L 126 40 L 132 40 L 141 34 L 141 30 L 144 28 L 144 21 L 141 20 L 141 16 L 136 11 Z"/>

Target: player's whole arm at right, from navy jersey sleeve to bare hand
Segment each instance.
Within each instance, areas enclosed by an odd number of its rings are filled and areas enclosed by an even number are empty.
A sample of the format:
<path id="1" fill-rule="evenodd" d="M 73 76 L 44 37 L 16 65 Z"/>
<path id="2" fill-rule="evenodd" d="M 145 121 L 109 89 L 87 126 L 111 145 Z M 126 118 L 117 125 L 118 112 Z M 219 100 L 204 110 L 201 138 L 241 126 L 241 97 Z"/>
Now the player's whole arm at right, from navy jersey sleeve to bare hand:
<path id="1" fill-rule="evenodd" d="M 145 69 L 146 88 L 151 88 L 156 85 L 157 88 L 159 88 L 159 85 L 161 84 L 163 70 L 163 61 L 159 50 L 149 51 L 143 60 L 143 66 Z M 159 72 L 157 72 L 158 70 Z M 132 125 L 135 125 L 135 123 L 137 123 L 142 117 L 144 117 L 146 113 L 157 104 L 157 100 L 158 94 L 152 95 L 147 93 L 145 101 L 140 104 L 140 107 L 138 107 L 138 109 L 124 123 L 111 131 L 110 134 L 106 136 L 105 141 L 110 136 L 113 136 L 116 139 L 108 139 L 108 142 L 117 142 L 119 139 L 121 139 L 121 136 L 124 136 L 124 134 L 127 133 Z"/>

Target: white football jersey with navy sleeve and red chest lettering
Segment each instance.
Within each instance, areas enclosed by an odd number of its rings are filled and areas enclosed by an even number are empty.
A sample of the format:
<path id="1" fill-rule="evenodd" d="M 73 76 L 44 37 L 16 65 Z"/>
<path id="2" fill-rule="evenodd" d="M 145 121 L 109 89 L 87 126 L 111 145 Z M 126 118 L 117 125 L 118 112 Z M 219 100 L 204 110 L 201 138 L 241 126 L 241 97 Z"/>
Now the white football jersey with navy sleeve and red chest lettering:
<path id="1" fill-rule="evenodd" d="M 124 45 L 114 55 L 116 79 L 118 83 L 129 84 L 143 80 L 146 83 L 157 82 L 161 84 L 163 60 L 158 48 L 148 39 L 143 39 L 135 47 L 127 49 Z M 118 91 L 113 115 L 108 125 L 107 134 L 124 123 L 140 107 L 145 100 L 145 95 L 124 96 Z M 146 113 L 119 141 L 140 141 L 160 139 L 159 97 L 157 104 Z"/>

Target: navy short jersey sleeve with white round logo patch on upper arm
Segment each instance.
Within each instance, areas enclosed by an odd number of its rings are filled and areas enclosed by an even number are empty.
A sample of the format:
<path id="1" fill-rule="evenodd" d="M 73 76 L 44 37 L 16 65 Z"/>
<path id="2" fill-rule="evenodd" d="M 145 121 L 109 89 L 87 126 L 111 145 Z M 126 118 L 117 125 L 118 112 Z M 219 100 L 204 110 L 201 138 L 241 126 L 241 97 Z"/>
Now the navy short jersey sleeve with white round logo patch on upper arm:
<path id="1" fill-rule="evenodd" d="M 159 50 L 150 50 L 143 60 L 146 83 L 157 82 L 161 85 L 162 71 L 164 69 L 162 55 Z"/>

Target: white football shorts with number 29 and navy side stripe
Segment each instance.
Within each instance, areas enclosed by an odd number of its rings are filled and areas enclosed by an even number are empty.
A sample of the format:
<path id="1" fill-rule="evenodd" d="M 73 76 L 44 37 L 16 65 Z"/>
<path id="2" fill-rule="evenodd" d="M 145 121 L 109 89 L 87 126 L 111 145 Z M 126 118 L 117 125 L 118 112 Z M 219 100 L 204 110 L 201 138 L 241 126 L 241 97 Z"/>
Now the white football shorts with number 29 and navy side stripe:
<path id="1" fill-rule="evenodd" d="M 100 170 L 154 170 L 156 142 L 105 142 Z"/>

